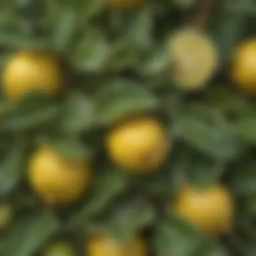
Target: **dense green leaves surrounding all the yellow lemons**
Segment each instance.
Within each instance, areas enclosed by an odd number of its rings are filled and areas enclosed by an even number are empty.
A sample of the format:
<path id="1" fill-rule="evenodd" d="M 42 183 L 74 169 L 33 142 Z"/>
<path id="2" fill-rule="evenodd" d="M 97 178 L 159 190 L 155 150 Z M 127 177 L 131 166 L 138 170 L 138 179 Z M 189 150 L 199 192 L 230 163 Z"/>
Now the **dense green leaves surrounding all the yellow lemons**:
<path id="1" fill-rule="evenodd" d="M 96 230 L 117 238 L 145 230 L 158 256 L 255 255 L 256 106 L 232 86 L 228 63 L 234 48 L 255 35 L 256 1 L 214 1 L 205 30 L 220 52 L 220 72 L 202 90 L 183 92 L 166 74 L 172 61 L 166 41 L 200 3 L 148 0 L 111 9 L 104 0 L 1 1 L 1 67 L 15 51 L 47 49 L 69 70 L 57 98 L 32 93 L 9 102 L 1 96 L 0 197 L 16 212 L 0 238 L 1 255 L 36 255 L 57 237 L 82 248 L 79 238 Z M 138 113 L 160 117 L 172 137 L 170 156 L 152 177 L 131 177 L 113 166 L 102 143 L 106 129 Z M 28 187 L 26 165 L 40 143 L 94 162 L 91 190 L 76 205 L 48 209 Z M 205 237 L 179 216 L 166 216 L 184 181 L 200 187 L 218 180 L 236 200 L 230 234 Z"/>

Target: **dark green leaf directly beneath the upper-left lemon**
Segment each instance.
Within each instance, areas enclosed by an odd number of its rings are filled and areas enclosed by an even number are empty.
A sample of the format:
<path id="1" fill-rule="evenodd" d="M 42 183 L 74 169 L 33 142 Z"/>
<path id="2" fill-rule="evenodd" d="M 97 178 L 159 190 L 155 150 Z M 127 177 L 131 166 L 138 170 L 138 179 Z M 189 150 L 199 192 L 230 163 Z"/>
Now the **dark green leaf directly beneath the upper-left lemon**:
<path id="1" fill-rule="evenodd" d="M 0 130 L 34 129 L 54 121 L 59 113 L 60 106 L 53 98 L 40 93 L 28 94 L 13 104 L 0 106 Z"/>

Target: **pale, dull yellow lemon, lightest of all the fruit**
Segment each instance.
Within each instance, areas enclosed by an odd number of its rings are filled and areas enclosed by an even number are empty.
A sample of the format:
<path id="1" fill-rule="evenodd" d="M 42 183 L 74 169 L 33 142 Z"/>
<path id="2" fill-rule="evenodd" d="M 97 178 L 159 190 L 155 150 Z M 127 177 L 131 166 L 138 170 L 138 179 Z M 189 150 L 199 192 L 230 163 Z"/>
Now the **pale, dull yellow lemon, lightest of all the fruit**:
<path id="1" fill-rule="evenodd" d="M 168 41 L 173 60 L 171 77 L 184 90 L 205 86 L 218 66 L 214 42 L 202 32 L 185 28 L 174 33 Z"/>

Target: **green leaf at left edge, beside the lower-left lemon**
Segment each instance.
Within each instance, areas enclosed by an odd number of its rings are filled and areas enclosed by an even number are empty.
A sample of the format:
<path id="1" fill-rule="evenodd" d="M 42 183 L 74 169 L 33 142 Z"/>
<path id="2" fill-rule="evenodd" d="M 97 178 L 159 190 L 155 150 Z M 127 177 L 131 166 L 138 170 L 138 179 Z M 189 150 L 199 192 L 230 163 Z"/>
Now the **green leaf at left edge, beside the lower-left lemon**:
<path id="1" fill-rule="evenodd" d="M 24 147 L 11 148 L 0 164 L 0 196 L 4 197 L 17 187 L 24 175 Z"/>

